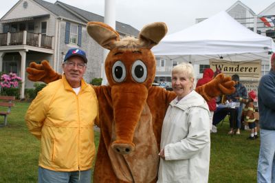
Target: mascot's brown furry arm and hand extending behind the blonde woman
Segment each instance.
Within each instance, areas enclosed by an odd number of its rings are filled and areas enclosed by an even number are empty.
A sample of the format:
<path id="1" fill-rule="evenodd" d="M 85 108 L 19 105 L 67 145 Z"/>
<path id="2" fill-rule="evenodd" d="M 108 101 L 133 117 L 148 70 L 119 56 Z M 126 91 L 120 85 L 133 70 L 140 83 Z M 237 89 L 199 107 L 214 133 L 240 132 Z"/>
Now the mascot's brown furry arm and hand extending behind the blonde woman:
<path id="1" fill-rule="evenodd" d="M 235 92 L 234 81 L 231 77 L 224 76 L 223 74 L 217 75 L 213 80 L 201 87 L 197 87 L 195 90 L 198 92 L 206 101 L 211 100 L 221 94 L 232 94 Z"/>

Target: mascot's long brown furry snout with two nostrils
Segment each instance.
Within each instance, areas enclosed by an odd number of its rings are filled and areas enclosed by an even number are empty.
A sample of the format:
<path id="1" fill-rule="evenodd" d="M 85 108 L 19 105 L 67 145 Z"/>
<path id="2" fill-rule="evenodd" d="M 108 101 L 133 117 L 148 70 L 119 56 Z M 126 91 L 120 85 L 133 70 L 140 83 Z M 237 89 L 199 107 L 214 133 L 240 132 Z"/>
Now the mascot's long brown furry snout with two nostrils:
<path id="1" fill-rule="evenodd" d="M 140 120 L 148 89 L 140 84 L 125 83 L 111 89 L 115 136 L 111 147 L 116 153 L 128 154 L 135 150 L 133 136 Z M 133 102 L 135 101 L 135 102 Z"/>

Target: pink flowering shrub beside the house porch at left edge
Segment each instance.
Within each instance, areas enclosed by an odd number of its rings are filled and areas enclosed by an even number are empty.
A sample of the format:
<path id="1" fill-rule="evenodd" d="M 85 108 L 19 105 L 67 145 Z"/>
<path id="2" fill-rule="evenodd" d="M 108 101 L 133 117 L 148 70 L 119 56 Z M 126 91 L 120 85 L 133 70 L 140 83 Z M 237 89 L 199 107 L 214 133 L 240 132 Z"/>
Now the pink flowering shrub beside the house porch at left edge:
<path id="1" fill-rule="evenodd" d="M 15 73 L 3 74 L 0 78 L 0 86 L 1 88 L 16 88 L 21 83 L 21 80 L 22 79 Z"/>

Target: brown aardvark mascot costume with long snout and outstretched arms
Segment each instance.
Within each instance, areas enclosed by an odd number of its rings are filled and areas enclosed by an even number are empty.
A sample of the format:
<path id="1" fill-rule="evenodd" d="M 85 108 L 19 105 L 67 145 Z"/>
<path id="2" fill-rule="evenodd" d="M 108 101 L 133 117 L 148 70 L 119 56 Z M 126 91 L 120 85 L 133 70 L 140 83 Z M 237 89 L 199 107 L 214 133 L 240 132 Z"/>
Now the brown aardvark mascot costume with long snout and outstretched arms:
<path id="1" fill-rule="evenodd" d="M 165 36 L 166 24 L 144 26 L 139 38 L 120 35 L 101 22 L 87 23 L 87 32 L 110 50 L 105 61 L 109 85 L 94 87 L 98 96 L 100 143 L 94 182 L 156 182 L 162 121 L 174 92 L 152 87 L 155 56 L 151 48 Z M 50 83 L 61 78 L 47 61 L 31 63 L 28 78 Z M 220 74 L 196 89 L 210 100 L 234 92 L 234 82 Z"/>

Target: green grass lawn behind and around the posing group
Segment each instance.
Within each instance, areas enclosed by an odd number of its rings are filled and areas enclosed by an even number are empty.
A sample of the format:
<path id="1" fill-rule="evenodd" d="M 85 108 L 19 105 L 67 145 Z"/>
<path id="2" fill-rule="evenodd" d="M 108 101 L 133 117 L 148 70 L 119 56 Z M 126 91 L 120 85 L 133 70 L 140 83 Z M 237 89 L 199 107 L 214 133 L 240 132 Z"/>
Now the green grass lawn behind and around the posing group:
<path id="1" fill-rule="evenodd" d="M 29 105 L 17 102 L 8 126 L 0 128 L 0 182 L 37 182 L 40 142 L 25 125 Z M 228 122 L 223 122 L 218 133 L 211 133 L 209 182 L 256 182 L 260 140 L 246 140 L 249 131 L 241 131 L 239 136 L 230 136 L 228 131 Z M 98 145 L 99 133 L 95 135 Z"/>

